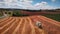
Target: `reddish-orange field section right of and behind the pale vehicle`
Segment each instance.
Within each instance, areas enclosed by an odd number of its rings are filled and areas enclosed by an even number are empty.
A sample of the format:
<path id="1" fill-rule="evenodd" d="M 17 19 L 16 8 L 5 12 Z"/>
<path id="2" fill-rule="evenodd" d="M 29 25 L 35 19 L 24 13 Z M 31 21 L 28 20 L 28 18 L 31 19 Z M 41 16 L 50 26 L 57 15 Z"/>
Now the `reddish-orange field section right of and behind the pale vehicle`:
<path id="1" fill-rule="evenodd" d="M 42 27 L 47 32 L 47 34 L 60 34 L 60 22 L 46 18 L 44 16 L 33 16 L 31 19 L 33 21 L 42 22 Z"/>

